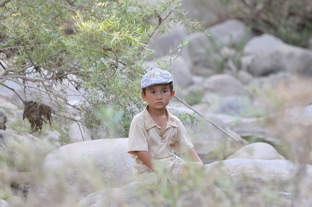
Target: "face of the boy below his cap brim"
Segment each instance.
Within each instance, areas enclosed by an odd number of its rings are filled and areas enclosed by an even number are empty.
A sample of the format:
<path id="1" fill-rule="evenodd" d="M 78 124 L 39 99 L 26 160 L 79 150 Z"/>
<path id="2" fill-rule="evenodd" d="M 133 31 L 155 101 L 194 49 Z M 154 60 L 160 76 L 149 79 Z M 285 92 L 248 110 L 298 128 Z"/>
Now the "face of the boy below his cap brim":
<path id="1" fill-rule="evenodd" d="M 175 91 L 170 92 L 170 84 L 159 84 L 147 87 L 145 89 L 145 95 L 142 92 L 141 96 L 144 101 L 147 101 L 150 108 L 164 109 L 173 99 Z"/>

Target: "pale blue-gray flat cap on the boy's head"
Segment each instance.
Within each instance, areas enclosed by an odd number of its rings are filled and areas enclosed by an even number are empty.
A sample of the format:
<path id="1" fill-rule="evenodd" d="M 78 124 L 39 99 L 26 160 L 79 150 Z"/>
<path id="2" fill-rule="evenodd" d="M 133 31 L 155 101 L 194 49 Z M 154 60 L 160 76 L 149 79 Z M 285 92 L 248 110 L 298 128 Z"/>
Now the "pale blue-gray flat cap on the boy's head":
<path id="1" fill-rule="evenodd" d="M 169 84 L 173 81 L 170 72 L 155 68 L 148 71 L 143 76 L 141 80 L 141 88 L 147 88 L 156 84 Z"/>

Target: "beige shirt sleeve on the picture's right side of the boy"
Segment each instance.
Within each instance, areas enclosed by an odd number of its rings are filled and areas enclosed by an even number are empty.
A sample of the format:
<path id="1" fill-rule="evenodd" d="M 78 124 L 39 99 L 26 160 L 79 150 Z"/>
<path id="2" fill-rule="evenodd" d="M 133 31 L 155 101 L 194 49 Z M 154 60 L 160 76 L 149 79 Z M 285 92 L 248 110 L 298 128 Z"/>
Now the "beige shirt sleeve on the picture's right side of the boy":
<path id="1" fill-rule="evenodd" d="M 182 154 L 192 149 L 194 145 L 183 123 L 178 118 L 176 118 L 176 124 L 178 125 L 177 129 L 178 141 L 175 143 L 174 148 L 176 149 L 178 154 Z"/>

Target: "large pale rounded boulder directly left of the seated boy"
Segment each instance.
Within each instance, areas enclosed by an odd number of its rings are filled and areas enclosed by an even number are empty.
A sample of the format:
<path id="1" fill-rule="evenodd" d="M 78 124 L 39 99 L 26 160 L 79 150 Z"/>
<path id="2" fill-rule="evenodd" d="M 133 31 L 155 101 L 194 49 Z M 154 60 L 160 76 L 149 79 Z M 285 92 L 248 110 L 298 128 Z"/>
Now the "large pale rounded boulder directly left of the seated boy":
<path id="1" fill-rule="evenodd" d="M 68 144 L 45 157 L 34 172 L 28 206 L 75 206 L 87 195 L 132 180 L 128 139 L 96 139 Z"/>

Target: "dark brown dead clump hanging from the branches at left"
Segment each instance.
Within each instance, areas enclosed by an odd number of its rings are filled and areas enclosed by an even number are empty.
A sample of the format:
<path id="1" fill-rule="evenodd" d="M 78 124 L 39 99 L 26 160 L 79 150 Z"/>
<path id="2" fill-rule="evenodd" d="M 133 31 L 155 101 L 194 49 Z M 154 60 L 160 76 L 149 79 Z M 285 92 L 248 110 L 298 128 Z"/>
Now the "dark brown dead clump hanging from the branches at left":
<path id="1" fill-rule="evenodd" d="M 43 121 L 45 123 L 49 121 L 51 125 L 52 109 L 50 106 L 34 101 L 24 102 L 24 106 L 23 120 L 28 119 L 34 132 L 42 130 Z"/>

